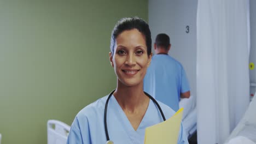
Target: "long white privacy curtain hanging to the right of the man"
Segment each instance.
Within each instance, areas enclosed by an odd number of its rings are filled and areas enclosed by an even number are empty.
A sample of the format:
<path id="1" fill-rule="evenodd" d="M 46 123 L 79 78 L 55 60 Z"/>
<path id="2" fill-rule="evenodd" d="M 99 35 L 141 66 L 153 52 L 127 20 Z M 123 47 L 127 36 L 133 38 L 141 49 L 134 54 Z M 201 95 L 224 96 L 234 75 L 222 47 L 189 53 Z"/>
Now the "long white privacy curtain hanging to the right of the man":
<path id="1" fill-rule="evenodd" d="M 249 104 L 248 6 L 248 0 L 198 0 L 199 144 L 224 143 Z"/>

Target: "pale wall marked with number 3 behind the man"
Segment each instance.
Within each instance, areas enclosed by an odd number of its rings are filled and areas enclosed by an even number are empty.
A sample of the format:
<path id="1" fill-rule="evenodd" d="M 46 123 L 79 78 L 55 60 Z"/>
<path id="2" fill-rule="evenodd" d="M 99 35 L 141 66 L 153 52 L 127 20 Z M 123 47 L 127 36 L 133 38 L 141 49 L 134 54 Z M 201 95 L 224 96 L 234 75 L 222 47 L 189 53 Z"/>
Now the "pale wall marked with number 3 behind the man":
<path id="1" fill-rule="evenodd" d="M 197 0 L 149 0 L 148 10 L 152 42 L 159 33 L 170 36 L 169 54 L 182 63 L 191 95 L 196 95 L 196 9 Z"/>

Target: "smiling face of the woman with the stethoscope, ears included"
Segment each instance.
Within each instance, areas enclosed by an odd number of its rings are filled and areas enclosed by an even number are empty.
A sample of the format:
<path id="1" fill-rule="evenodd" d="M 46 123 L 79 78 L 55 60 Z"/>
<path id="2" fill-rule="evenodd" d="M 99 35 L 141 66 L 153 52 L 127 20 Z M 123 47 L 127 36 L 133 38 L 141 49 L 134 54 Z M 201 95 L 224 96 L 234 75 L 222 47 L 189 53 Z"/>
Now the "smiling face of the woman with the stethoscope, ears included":
<path id="1" fill-rule="evenodd" d="M 143 79 L 152 55 L 147 54 L 144 36 L 137 29 L 120 33 L 116 39 L 114 53 L 109 59 L 118 77 L 118 85 L 143 86 Z"/>

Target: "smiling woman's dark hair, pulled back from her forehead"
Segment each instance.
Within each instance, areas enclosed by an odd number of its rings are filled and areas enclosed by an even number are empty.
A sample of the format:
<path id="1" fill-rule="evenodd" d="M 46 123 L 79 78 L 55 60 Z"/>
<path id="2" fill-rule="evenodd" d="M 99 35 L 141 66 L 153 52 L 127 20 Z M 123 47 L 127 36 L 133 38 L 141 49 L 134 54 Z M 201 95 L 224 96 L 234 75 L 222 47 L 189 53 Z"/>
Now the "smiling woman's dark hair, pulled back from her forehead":
<path id="1" fill-rule="evenodd" d="M 139 17 L 125 17 L 120 19 L 113 28 L 110 40 L 110 52 L 112 52 L 112 55 L 114 53 L 115 39 L 118 37 L 118 35 L 124 31 L 134 28 L 138 29 L 138 31 L 144 35 L 147 45 L 147 54 L 151 54 L 152 39 L 148 23 Z"/>

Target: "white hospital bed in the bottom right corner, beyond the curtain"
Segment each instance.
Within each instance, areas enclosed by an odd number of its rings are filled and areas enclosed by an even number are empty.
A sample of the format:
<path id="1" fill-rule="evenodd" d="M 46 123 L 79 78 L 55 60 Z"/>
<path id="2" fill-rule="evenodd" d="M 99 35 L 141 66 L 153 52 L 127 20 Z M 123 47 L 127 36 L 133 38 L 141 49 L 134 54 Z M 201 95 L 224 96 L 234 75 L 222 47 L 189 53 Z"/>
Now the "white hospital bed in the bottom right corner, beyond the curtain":
<path id="1" fill-rule="evenodd" d="M 256 93 L 255 93 L 256 94 Z M 256 144 L 256 98 L 252 99 L 236 128 L 230 134 L 226 144 Z"/>

